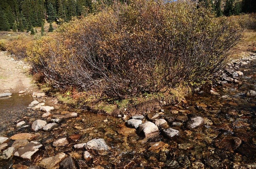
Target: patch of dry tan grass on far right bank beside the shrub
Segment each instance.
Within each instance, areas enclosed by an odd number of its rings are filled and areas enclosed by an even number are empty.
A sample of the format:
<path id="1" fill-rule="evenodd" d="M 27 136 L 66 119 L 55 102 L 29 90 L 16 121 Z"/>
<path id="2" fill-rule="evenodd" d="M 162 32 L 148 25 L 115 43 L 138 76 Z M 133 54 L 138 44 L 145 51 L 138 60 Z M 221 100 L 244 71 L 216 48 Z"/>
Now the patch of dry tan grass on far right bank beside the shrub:
<path id="1" fill-rule="evenodd" d="M 241 58 L 256 52 L 256 31 L 246 30 L 240 42 L 233 48 L 230 58 Z"/>

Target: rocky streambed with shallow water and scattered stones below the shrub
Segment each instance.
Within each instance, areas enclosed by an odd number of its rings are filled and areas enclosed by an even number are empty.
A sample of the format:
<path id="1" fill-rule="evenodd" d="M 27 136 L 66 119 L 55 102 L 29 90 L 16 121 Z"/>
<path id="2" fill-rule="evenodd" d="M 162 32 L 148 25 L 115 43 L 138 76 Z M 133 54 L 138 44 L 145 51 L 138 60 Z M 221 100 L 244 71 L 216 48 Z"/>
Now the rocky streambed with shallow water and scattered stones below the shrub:
<path id="1" fill-rule="evenodd" d="M 232 60 L 186 101 L 132 117 L 70 110 L 33 93 L 28 108 L 0 110 L 0 166 L 256 168 L 255 59 Z"/>

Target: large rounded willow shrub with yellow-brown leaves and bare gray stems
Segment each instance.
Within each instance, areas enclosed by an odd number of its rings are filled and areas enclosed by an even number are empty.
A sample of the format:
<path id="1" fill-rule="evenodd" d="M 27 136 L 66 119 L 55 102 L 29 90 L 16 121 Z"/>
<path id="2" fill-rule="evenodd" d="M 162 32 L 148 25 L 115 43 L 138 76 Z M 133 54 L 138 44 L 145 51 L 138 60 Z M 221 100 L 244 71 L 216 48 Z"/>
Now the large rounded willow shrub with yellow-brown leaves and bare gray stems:
<path id="1" fill-rule="evenodd" d="M 63 24 L 27 53 L 54 87 L 127 98 L 208 80 L 240 35 L 195 4 L 133 0 Z"/>

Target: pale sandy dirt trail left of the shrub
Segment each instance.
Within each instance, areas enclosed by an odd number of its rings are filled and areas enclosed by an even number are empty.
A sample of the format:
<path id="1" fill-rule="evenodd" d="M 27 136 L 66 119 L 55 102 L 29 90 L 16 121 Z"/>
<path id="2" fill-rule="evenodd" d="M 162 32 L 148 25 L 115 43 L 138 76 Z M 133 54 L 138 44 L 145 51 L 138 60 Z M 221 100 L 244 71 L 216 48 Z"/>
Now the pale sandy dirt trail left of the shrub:
<path id="1" fill-rule="evenodd" d="M 33 90 L 36 86 L 28 77 L 29 65 L 16 61 L 7 52 L 0 52 L 0 93 Z"/>

